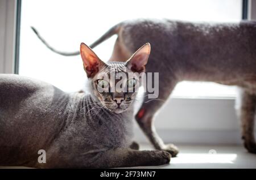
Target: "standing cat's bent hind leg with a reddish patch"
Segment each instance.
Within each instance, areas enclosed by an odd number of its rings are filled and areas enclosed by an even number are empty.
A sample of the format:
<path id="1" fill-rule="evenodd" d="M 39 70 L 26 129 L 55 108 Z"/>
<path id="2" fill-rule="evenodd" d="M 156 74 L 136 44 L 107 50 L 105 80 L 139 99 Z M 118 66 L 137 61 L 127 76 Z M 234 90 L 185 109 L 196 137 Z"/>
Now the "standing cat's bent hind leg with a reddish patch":
<path id="1" fill-rule="evenodd" d="M 162 80 L 162 82 L 159 81 L 159 97 L 155 100 L 148 99 L 148 93 L 146 92 L 143 104 L 135 116 L 139 126 L 142 128 L 144 134 L 146 134 L 152 145 L 154 145 L 156 149 L 171 153 L 172 157 L 175 157 L 177 153 L 179 153 L 179 149 L 174 144 L 163 143 L 163 140 L 155 130 L 153 120 L 155 113 L 163 106 L 164 102 L 166 102 L 175 85 L 176 81 L 172 78 L 164 81 Z"/>

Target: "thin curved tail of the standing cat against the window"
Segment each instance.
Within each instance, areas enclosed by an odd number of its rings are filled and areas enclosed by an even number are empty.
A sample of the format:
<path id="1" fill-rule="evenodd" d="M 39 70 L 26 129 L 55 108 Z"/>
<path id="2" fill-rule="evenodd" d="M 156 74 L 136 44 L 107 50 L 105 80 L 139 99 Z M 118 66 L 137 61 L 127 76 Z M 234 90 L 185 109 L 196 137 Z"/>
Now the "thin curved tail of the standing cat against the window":
<path id="1" fill-rule="evenodd" d="M 97 45 L 101 44 L 101 42 L 107 40 L 108 38 L 112 37 L 113 35 L 116 35 L 119 32 L 121 24 L 122 23 L 119 23 L 117 25 L 114 25 L 112 28 L 110 28 L 109 31 L 107 31 L 104 35 L 102 35 L 100 38 L 98 38 L 98 40 L 93 42 L 93 44 L 90 45 L 90 48 L 93 49 Z M 51 45 L 49 45 L 48 42 L 46 42 L 46 40 L 44 40 L 44 38 L 38 33 L 38 31 L 34 27 L 31 27 L 31 29 L 34 31 L 36 36 L 38 36 L 39 40 L 41 40 L 43 42 L 43 44 L 47 46 L 47 48 L 52 50 L 52 52 L 55 52 L 55 53 L 60 54 L 60 55 L 65 55 L 65 56 L 72 56 L 72 55 L 79 55 L 80 54 L 79 51 L 77 51 L 77 52 L 62 52 L 60 50 L 56 50 Z"/>

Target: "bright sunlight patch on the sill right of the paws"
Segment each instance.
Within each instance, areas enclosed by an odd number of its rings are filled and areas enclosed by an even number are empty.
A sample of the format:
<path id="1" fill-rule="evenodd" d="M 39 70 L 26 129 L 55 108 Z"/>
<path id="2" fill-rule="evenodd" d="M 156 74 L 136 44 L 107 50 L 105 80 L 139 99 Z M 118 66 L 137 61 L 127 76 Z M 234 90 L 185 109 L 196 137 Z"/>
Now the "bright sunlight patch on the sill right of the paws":
<path id="1" fill-rule="evenodd" d="M 171 159 L 171 164 L 233 164 L 237 154 L 208 154 L 208 153 L 180 153 L 177 158 Z"/>

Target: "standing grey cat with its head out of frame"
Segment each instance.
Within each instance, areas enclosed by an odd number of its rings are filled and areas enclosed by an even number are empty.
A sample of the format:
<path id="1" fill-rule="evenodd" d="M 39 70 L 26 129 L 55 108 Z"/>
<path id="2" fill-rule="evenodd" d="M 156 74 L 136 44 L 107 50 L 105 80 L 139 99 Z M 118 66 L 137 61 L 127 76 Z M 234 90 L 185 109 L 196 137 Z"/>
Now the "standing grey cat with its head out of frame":
<path id="1" fill-rule="evenodd" d="M 147 72 L 159 72 L 158 99 L 162 101 L 148 102 L 147 92 L 135 118 L 156 149 L 168 151 L 172 156 L 177 154 L 178 149 L 174 145 L 164 144 L 156 134 L 152 120 L 175 85 L 183 80 L 191 80 L 241 87 L 242 139 L 246 149 L 256 153 L 255 22 L 210 24 L 172 20 L 132 20 L 110 28 L 90 47 L 94 48 L 113 35 L 118 35 L 118 38 L 110 61 L 125 61 L 145 42 L 150 42 L 154 49 L 146 68 Z M 79 54 L 59 52 L 49 46 L 42 37 L 39 38 L 53 52 L 61 55 Z"/>

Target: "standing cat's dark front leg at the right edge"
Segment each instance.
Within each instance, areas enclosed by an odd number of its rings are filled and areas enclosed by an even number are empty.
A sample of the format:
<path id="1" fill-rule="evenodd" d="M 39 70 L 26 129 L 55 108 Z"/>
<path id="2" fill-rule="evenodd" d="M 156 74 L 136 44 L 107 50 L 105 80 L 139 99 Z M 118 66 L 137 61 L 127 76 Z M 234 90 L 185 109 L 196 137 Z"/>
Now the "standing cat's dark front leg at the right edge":
<path id="1" fill-rule="evenodd" d="M 256 95 L 247 91 L 242 92 L 241 96 L 241 125 L 242 139 L 247 151 L 256 153 L 256 143 L 254 139 L 254 118 L 256 111 Z"/>

